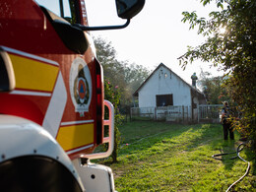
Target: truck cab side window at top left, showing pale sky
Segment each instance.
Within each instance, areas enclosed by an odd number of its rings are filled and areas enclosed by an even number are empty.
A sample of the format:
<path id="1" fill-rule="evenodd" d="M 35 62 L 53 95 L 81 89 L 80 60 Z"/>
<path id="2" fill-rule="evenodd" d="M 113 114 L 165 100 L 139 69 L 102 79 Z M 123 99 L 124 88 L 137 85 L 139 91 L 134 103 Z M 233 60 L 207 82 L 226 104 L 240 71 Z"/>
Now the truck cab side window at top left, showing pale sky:
<path id="1" fill-rule="evenodd" d="M 65 19 L 70 24 L 77 24 L 75 0 L 35 0 L 40 6 L 51 11 L 58 17 Z"/>

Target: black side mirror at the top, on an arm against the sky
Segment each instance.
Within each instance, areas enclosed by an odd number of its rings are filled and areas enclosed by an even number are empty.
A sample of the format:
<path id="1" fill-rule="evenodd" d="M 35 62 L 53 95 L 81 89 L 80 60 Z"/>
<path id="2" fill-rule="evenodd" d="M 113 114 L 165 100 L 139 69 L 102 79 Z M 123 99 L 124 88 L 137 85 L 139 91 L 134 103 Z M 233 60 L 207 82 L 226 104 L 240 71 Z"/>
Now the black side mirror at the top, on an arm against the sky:
<path id="1" fill-rule="evenodd" d="M 115 0 L 115 4 L 119 18 L 132 19 L 142 10 L 145 0 Z"/>

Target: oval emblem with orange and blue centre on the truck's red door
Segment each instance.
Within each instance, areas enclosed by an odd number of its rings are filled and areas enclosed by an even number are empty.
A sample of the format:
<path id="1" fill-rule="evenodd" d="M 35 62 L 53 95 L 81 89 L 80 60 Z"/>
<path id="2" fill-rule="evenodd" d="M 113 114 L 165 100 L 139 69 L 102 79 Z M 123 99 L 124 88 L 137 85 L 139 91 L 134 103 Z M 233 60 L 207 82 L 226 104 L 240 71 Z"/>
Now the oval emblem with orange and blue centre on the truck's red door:
<path id="1" fill-rule="evenodd" d="M 92 99 L 92 78 L 87 63 L 82 58 L 76 58 L 70 71 L 70 94 L 75 111 L 85 116 L 89 111 Z"/>

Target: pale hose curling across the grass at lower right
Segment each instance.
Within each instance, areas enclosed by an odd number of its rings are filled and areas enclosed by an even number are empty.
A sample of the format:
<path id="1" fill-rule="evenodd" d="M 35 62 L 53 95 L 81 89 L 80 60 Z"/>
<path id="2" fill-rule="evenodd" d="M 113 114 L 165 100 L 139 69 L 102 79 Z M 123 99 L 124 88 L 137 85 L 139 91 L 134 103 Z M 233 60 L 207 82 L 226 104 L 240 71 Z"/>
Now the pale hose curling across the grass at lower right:
<path id="1" fill-rule="evenodd" d="M 241 144 L 238 145 L 238 147 L 237 147 L 237 149 L 236 149 L 236 152 L 224 153 L 224 154 L 216 154 L 216 155 L 213 155 L 213 156 L 212 156 L 212 158 L 214 158 L 215 160 L 224 160 L 224 159 L 220 159 L 220 158 L 217 158 L 217 157 L 226 156 L 226 155 L 230 155 L 230 154 L 236 154 L 235 157 L 232 157 L 232 158 L 230 158 L 229 160 L 233 160 L 233 159 L 239 158 L 240 160 L 243 160 L 244 162 L 247 162 L 247 163 L 248 163 L 248 166 L 247 166 L 247 169 L 246 169 L 245 173 L 244 173 L 238 180 L 236 180 L 235 182 L 233 182 L 233 183 L 226 189 L 225 192 L 229 191 L 229 190 L 232 188 L 232 186 L 234 186 L 237 182 L 239 182 L 240 180 L 242 180 L 242 179 L 248 174 L 248 172 L 249 172 L 249 169 L 250 169 L 250 162 L 247 161 L 247 160 L 242 159 L 242 158 L 240 157 L 240 154 L 239 154 L 239 153 L 243 150 L 244 146 L 245 146 L 245 143 L 241 143 Z M 240 147 L 242 147 L 242 148 L 240 149 Z"/>

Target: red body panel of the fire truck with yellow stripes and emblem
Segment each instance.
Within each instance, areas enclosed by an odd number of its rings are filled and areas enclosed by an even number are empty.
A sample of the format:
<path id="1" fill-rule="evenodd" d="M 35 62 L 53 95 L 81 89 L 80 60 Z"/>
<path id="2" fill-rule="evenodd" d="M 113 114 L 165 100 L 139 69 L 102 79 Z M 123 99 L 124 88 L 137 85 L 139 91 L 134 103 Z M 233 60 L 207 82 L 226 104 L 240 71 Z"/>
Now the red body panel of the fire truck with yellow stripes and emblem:
<path id="1" fill-rule="evenodd" d="M 81 24 L 87 24 L 84 2 L 74 2 Z M 63 39 L 72 35 L 62 35 L 34 1 L 0 4 L 5 8 L 0 15 L 0 46 L 10 57 L 16 78 L 14 91 L 0 93 L 0 113 L 41 125 L 71 159 L 92 153 L 102 143 L 103 91 L 101 68 L 88 46 L 91 37 L 83 32 L 88 48 L 75 52 Z"/>

